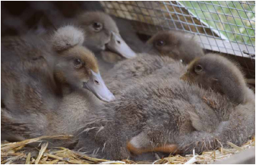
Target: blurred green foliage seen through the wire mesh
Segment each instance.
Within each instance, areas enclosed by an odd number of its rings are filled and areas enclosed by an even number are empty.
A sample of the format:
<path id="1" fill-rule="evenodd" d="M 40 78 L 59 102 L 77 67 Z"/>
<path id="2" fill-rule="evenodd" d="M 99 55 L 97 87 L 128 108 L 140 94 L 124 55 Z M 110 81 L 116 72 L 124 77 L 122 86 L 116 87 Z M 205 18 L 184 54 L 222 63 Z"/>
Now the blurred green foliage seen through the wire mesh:
<path id="1" fill-rule="evenodd" d="M 181 2 L 227 39 L 255 45 L 255 2 Z M 247 4 L 248 3 L 248 4 Z"/>

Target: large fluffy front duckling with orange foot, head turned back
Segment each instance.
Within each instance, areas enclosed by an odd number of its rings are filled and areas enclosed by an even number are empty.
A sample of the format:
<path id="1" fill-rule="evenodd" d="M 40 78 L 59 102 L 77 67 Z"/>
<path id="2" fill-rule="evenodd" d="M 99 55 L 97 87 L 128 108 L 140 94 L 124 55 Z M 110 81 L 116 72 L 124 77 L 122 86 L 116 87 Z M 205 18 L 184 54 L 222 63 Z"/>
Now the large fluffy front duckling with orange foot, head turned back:
<path id="1" fill-rule="evenodd" d="M 226 58 L 212 54 L 193 61 L 189 68 L 198 70 L 198 64 L 201 73 L 207 75 L 201 79 L 221 76 L 223 81 L 219 85 L 225 86 L 229 81 L 237 86 L 237 89 L 226 88 L 239 90 L 243 101 L 229 95 L 230 90 L 220 93 L 180 79 L 145 78 L 143 84 L 131 86 L 106 105 L 106 110 L 115 111 L 114 116 L 106 114 L 102 122 L 98 119 L 97 123 L 81 129 L 76 149 L 122 160 L 144 151 L 188 154 L 195 149 L 200 153 L 227 142 L 235 145 L 247 142 L 254 135 L 255 102 L 244 80 L 232 81 L 243 79 L 241 71 Z M 216 67 L 222 68 L 222 72 L 214 72 Z M 196 79 L 194 82 L 201 84 Z"/>

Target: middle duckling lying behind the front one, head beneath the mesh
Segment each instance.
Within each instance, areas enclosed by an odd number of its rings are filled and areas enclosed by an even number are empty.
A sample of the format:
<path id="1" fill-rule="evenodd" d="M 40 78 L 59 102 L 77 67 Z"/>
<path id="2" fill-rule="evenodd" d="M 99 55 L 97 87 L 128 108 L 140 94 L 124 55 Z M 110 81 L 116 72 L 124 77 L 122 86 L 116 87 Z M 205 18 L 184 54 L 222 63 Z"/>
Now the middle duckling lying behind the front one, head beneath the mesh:
<path id="1" fill-rule="evenodd" d="M 121 61 L 104 74 L 108 81 L 106 83 L 115 95 L 122 92 L 125 86 L 134 83 L 130 79 L 138 80 L 137 78 L 141 79 L 144 76 L 156 76 L 155 70 L 160 70 L 158 74 L 163 76 L 180 76 L 185 73 L 185 66 L 182 67 L 178 64 L 179 61 L 172 61 L 169 58 L 182 60 L 182 64 L 188 64 L 194 58 L 204 55 L 203 49 L 193 39 L 186 39 L 183 33 L 173 31 L 156 33 L 147 42 L 147 48 L 151 49 L 150 54 L 137 54 L 141 57 Z M 152 56 L 161 56 L 161 58 Z M 166 69 L 161 70 L 163 67 Z M 124 79 L 129 79 L 131 83 L 123 83 Z"/>

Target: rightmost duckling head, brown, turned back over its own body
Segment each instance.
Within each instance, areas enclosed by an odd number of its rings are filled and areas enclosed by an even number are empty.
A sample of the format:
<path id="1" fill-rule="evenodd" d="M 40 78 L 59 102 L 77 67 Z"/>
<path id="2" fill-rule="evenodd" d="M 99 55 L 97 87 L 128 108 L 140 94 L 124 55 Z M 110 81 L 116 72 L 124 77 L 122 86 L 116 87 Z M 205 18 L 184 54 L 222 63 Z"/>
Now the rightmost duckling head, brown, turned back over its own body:
<path id="1" fill-rule="evenodd" d="M 181 79 L 227 95 L 230 100 L 239 104 L 246 100 L 248 93 L 239 67 L 217 54 L 207 54 L 191 61 Z"/>

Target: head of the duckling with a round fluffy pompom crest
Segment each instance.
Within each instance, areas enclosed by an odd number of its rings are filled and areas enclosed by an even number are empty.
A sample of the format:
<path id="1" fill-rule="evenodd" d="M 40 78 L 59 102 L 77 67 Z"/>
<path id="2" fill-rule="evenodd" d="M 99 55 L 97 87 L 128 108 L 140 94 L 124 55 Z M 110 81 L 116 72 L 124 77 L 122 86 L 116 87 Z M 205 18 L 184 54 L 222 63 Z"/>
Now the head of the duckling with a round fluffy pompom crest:
<path id="1" fill-rule="evenodd" d="M 32 54 L 31 58 L 36 57 L 37 59 L 38 56 L 44 59 L 44 66 L 49 65 L 49 67 L 52 68 L 52 74 L 54 75 L 58 86 L 69 87 L 69 89 L 88 89 L 103 101 L 110 101 L 113 99 L 112 93 L 106 88 L 105 83 L 100 76 L 96 58 L 91 51 L 82 46 L 84 42 L 84 33 L 82 33 L 81 30 L 78 30 L 74 26 L 64 26 L 59 28 L 51 39 L 52 48 L 57 52 L 55 55 L 54 53 L 42 53 L 43 50 L 40 50 L 38 45 L 41 45 L 42 48 L 51 47 L 51 45 L 46 45 L 47 43 L 46 41 L 43 41 L 43 39 L 37 44 L 33 39 L 31 39 L 32 42 L 30 42 L 30 38 L 35 38 L 33 36 L 24 38 L 26 39 L 19 40 L 19 38 L 14 38 L 11 41 L 8 41 L 11 42 L 12 45 L 16 44 L 14 49 L 23 48 L 25 50 L 24 54 L 26 54 L 21 55 L 19 51 L 14 50 L 12 51 L 12 54 L 14 55 L 11 57 L 15 57 L 16 55 L 18 57 L 30 59 L 30 54 Z M 4 43 L 4 45 L 6 44 Z M 8 48 L 11 48 L 11 46 Z M 7 51 L 9 50 L 6 50 L 5 53 Z M 29 53 L 26 51 L 29 51 Z M 35 51 L 35 53 L 38 52 L 38 55 L 33 55 L 30 51 Z M 33 67 L 33 64 L 29 60 L 26 62 L 30 63 Z M 5 61 L 3 63 L 5 63 Z M 40 64 L 36 65 L 40 66 Z M 49 71 L 49 67 L 43 68 L 43 70 Z"/>

